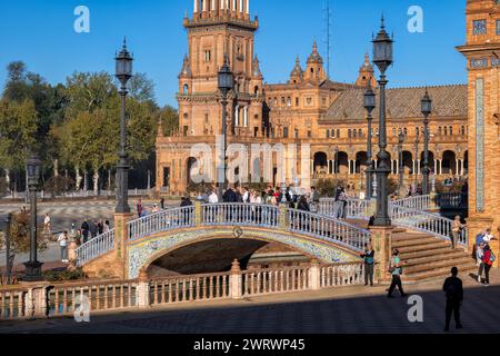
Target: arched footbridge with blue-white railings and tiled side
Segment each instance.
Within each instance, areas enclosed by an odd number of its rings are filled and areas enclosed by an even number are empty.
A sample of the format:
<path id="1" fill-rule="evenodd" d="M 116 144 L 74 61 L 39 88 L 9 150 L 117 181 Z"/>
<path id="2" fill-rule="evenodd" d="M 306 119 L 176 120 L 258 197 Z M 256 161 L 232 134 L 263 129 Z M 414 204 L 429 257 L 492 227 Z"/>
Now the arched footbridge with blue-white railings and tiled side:
<path id="1" fill-rule="evenodd" d="M 121 277 L 137 278 L 166 254 L 201 241 L 277 243 L 331 264 L 359 260 L 358 254 L 370 238 L 369 230 L 332 216 L 267 205 L 197 202 L 123 225 L 116 221 L 114 229 L 79 247 L 76 257 L 89 271 L 99 268 L 118 271 L 113 260 L 121 257 L 124 268 Z"/>

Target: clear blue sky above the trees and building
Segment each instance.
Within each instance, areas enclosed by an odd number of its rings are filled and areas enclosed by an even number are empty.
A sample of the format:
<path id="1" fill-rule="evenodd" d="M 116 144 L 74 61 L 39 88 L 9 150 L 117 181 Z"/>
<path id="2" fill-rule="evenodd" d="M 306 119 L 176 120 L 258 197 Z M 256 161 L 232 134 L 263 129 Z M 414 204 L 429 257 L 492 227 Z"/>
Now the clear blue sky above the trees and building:
<path id="1" fill-rule="evenodd" d="M 300 56 L 311 52 L 313 39 L 326 56 L 327 0 L 250 0 L 260 20 L 256 51 L 264 80 L 286 81 Z M 0 82 L 6 66 L 23 60 L 49 82 L 63 82 L 73 71 L 113 71 L 113 56 L 127 36 L 134 69 L 156 83 L 159 103 L 176 105 L 177 76 L 187 51 L 182 27 L 192 0 L 0 0 Z M 90 33 L 76 33 L 73 10 L 90 9 Z M 423 33 L 410 33 L 410 6 L 423 9 Z M 333 80 L 352 82 L 371 33 L 383 11 L 394 33 L 391 87 L 467 82 L 464 59 L 454 49 L 466 39 L 466 0 L 330 0 L 331 70 Z"/>

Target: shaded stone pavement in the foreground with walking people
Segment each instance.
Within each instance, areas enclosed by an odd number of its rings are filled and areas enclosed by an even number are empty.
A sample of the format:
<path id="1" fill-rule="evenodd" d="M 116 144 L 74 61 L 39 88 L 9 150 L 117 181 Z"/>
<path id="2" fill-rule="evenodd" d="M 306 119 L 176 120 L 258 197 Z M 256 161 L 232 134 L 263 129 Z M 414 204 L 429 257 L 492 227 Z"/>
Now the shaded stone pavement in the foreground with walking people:
<path id="1" fill-rule="evenodd" d="M 500 273 L 483 287 L 461 276 L 466 293 L 464 328 L 458 334 L 500 333 Z M 126 334 L 436 334 L 443 332 L 442 281 L 407 286 L 423 298 L 423 323 L 408 320 L 406 298 L 388 299 L 383 286 L 362 286 L 152 308 L 112 315 L 91 315 L 89 324 L 71 318 L 3 322 L 0 333 L 126 333 Z M 394 294 L 397 295 L 397 293 Z"/>

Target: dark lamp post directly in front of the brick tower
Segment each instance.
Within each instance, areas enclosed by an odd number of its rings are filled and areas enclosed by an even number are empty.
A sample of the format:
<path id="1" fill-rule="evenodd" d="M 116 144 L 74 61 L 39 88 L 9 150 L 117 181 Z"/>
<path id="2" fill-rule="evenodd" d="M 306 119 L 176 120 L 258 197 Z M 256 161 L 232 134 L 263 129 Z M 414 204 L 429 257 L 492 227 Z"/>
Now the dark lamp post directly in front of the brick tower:
<path id="1" fill-rule="evenodd" d="M 218 73 L 218 88 L 221 93 L 221 105 L 222 105 L 222 148 L 220 155 L 220 165 L 219 165 L 219 201 L 222 201 L 222 196 L 226 190 L 226 171 L 228 167 L 228 158 L 226 155 L 226 150 L 228 147 L 228 95 L 229 91 L 234 86 L 234 77 L 231 72 L 231 68 L 229 67 L 229 57 L 224 55 L 224 63 L 219 70 Z"/>

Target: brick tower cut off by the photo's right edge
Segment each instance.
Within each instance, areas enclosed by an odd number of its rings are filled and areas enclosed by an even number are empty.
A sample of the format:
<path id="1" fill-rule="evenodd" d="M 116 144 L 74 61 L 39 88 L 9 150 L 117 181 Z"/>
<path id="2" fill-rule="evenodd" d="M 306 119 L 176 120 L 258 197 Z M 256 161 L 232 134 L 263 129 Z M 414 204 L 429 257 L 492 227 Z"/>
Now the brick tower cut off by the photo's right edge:
<path id="1" fill-rule="evenodd" d="M 500 235 L 500 2 L 467 1 L 470 245 L 487 227 Z M 498 241 L 492 244 L 497 255 Z"/>

